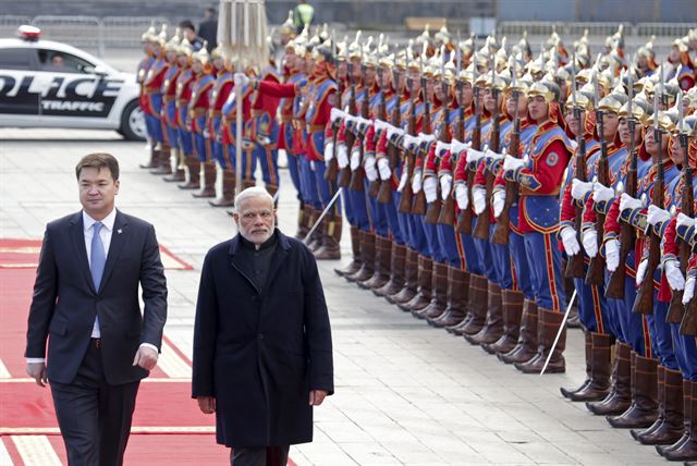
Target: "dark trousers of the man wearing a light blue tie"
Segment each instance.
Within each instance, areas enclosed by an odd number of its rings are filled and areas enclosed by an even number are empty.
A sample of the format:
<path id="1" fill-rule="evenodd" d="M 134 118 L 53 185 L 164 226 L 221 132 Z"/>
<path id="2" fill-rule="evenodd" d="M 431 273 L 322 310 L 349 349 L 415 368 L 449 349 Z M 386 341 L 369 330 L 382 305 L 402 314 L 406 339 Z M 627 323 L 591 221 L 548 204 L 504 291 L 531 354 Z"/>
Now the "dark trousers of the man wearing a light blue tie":
<path id="1" fill-rule="evenodd" d="M 49 382 L 69 464 L 122 465 L 140 382 L 108 384 L 96 340 L 72 383 Z"/>

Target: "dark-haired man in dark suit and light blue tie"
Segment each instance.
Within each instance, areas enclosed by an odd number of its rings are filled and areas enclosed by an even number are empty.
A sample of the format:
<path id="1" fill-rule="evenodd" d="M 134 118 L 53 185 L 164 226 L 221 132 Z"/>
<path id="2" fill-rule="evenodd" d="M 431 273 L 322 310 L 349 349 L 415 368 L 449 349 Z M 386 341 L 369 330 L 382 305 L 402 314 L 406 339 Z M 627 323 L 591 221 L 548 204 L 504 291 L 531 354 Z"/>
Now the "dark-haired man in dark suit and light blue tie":
<path id="1" fill-rule="evenodd" d="M 167 283 L 152 225 L 114 208 L 117 159 L 90 154 L 75 173 L 83 210 L 46 228 L 26 371 L 51 385 L 71 465 L 121 465 L 140 379 L 157 365 Z"/>

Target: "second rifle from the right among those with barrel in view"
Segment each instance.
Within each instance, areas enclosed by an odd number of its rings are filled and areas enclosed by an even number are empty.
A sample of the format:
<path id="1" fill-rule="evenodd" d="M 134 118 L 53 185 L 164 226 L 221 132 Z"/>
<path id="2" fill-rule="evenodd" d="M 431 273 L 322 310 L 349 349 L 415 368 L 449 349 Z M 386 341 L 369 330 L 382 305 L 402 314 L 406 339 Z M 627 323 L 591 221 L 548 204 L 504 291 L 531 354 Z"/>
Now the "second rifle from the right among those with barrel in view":
<path id="1" fill-rule="evenodd" d="M 661 86 L 663 85 L 663 73 L 661 69 Z M 662 209 L 663 205 L 663 188 L 665 184 L 665 172 L 663 170 L 663 148 L 661 147 L 662 143 L 662 133 L 658 125 L 658 91 L 653 94 L 653 137 L 656 138 L 656 144 L 658 145 L 658 157 L 656 160 L 657 164 L 657 175 L 656 182 L 653 183 L 653 193 L 651 196 L 651 203 Z M 644 281 L 641 285 L 637 290 L 636 299 L 634 301 L 634 306 L 632 307 L 632 312 L 634 314 L 652 314 L 653 312 L 653 272 L 658 268 L 658 265 L 661 259 L 661 238 L 653 232 L 653 229 L 649 230 L 648 233 L 649 240 L 649 257 L 648 257 L 648 267 L 646 269 L 646 274 L 644 275 Z"/>

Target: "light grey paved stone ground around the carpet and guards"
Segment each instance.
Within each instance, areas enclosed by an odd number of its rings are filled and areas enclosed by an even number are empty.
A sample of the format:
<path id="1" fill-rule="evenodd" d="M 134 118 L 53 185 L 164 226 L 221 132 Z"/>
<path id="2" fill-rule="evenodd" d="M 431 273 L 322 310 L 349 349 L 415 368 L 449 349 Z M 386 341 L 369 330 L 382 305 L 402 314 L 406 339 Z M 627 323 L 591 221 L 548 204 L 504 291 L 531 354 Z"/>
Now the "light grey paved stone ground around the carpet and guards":
<path id="1" fill-rule="evenodd" d="M 118 206 L 152 222 L 159 241 L 195 268 L 168 271 L 166 332 L 191 355 L 204 255 L 234 229 L 224 210 L 139 170 L 142 143 L 103 131 L 0 128 L 0 237 L 41 237 L 47 221 L 77 210 L 73 168 L 91 151 L 121 162 Z M 294 233 L 296 201 L 285 171 L 279 211 L 280 228 Z M 559 394 L 560 385 L 583 379 L 579 331 L 568 334 L 566 375 L 524 376 L 346 283 L 332 273 L 335 266 L 320 265 L 337 393 L 316 410 L 315 442 L 291 450 L 298 465 L 662 463 L 652 447 Z"/>

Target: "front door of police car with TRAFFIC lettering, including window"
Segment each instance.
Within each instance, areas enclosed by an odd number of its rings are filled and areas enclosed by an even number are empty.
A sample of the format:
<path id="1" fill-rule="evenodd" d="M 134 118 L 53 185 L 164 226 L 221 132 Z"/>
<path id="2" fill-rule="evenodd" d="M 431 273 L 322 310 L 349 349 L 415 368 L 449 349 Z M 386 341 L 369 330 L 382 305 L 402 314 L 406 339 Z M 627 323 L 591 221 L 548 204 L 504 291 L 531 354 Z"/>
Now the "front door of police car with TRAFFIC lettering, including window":
<path id="1" fill-rule="evenodd" d="M 60 50 L 38 49 L 36 79 L 41 93 L 44 124 L 74 127 L 103 126 L 119 88 L 95 72 L 95 64 Z"/>

